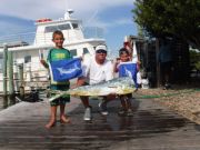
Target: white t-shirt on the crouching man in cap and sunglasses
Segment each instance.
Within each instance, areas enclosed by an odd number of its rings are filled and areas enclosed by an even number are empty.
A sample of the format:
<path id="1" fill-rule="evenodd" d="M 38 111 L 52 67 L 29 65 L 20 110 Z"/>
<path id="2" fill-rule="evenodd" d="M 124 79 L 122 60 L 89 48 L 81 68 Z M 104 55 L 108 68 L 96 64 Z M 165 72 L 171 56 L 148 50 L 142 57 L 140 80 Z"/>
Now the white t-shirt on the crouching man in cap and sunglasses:
<path id="1" fill-rule="evenodd" d="M 94 58 L 82 64 L 82 74 L 89 79 L 89 84 L 99 83 L 113 79 L 113 64 L 106 60 L 103 64 L 98 64 Z"/>

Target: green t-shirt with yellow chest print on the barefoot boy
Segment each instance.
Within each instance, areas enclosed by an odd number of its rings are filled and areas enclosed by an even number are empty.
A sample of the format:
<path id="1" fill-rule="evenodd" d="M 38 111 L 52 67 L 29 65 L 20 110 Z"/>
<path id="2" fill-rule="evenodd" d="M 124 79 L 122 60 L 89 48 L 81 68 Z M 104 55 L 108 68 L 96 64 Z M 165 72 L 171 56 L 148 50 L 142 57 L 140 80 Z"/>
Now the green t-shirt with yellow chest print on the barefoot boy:
<path id="1" fill-rule="evenodd" d="M 58 61 L 58 60 L 64 60 L 64 59 L 71 59 L 72 56 L 69 50 L 67 49 L 50 49 L 48 53 L 47 61 L 52 62 L 52 61 Z M 69 84 L 69 81 L 53 81 L 51 78 L 51 84 Z"/>

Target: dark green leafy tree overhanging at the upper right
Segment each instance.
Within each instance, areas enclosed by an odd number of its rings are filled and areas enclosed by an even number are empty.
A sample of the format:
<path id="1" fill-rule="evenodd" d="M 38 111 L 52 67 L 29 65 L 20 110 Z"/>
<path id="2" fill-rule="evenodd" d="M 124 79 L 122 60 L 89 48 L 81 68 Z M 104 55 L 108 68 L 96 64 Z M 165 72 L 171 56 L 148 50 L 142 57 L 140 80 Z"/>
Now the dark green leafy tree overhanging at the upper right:
<path id="1" fill-rule="evenodd" d="M 136 0 L 134 21 L 156 38 L 179 38 L 200 48 L 200 0 Z"/>

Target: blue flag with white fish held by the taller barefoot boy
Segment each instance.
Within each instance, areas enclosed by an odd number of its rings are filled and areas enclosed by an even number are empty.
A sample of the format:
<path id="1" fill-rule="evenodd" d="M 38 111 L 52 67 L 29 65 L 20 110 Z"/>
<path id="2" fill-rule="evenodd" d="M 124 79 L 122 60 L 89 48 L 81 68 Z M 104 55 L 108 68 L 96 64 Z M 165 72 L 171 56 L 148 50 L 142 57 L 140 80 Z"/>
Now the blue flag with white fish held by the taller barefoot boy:
<path id="1" fill-rule="evenodd" d="M 50 62 L 51 76 L 54 81 L 66 81 L 82 74 L 79 58 Z"/>

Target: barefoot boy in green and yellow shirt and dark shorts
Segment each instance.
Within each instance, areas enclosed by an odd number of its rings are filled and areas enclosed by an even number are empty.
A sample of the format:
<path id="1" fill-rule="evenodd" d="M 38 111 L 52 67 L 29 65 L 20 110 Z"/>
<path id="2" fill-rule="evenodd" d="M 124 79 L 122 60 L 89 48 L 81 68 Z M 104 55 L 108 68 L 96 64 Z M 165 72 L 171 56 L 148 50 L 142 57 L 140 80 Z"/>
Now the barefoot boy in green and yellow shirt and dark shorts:
<path id="1" fill-rule="evenodd" d="M 70 51 L 62 47 L 64 38 L 63 38 L 63 33 L 61 31 L 57 30 L 53 32 L 52 41 L 54 42 L 56 47 L 53 49 L 50 49 L 47 61 L 43 59 L 40 60 L 40 62 L 46 68 L 49 68 L 49 63 L 51 63 L 51 62 L 59 61 L 59 60 L 68 60 L 68 59 L 72 58 Z M 49 63 L 47 63 L 47 62 L 49 62 Z M 51 90 L 66 91 L 69 89 L 69 87 L 70 87 L 69 80 L 54 81 L 53 78 L 51 77 L 51 84 L 50 84 Z M 64 116 L 66 102 L 69 102 L 69 101 L 70 101 L 70 96 L 63 96 L 63 97 L 58 98 L 50 102 L 50 106 L 51 106 L 50 121 L 48 124 L 46 124 L 46 128 L 49 129 L 56 124 L 58 106 L 60 106 L 60 122 L 61 123 L 70 122 L 70 119 Z"/>

